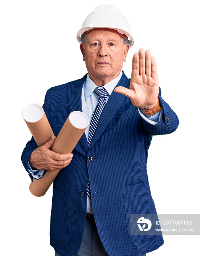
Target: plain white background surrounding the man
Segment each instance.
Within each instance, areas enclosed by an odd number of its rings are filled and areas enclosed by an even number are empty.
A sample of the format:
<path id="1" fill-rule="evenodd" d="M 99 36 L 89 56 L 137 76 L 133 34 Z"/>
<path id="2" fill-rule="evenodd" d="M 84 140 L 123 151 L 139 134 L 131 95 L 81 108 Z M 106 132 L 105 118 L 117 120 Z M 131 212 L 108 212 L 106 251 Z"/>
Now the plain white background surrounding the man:
<path id="1" fill-rule="evenodd" d="M 29 103 L 42 105 L 46 90 L 82 78 L 85 64 L 76 41 L 83 20 L 99 4 L 113 4 L 128 19 L 132 56 L 150 49 L 158 65 L 162 97 L 180 125 L 155 136 L 148 176 L 159 214 L 199 212 L 199 11 L 197 1 L 18 0 L 0 5 L 1 61 L 1 255 L 53 256 L 49 245 L 52 187 L 44 197 L 29 192 L 20 156 L 30 132 L 22 118 Z M 199 255 L 199 236 L 164 236 L 149 256 Z M 117 255 L 116 255 L 117 256 Z"/>

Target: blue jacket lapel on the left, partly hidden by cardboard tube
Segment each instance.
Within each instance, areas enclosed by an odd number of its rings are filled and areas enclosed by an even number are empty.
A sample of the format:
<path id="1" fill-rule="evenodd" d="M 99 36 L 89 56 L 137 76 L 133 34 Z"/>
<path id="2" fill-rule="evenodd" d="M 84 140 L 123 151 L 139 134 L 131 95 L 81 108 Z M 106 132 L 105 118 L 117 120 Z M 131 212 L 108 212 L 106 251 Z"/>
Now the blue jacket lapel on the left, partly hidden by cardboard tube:
<path id="1" fill-rule="evenodd" d="M 67 101 L 69 105 L 70 113 L 73 111 L 81 111 L 82 110 L 82 88 L 84 81 L 87 77 L 87 74 L 83 76 L 82 79 L 76 80 L 75 82 L 72 82 L 68 85 L 67 89 Z M 82 137 L 80 138 L 80 142 L 82 143 L 84 149 L 88 151 L 88 143 L 85 133 L 83 133 Z"/>

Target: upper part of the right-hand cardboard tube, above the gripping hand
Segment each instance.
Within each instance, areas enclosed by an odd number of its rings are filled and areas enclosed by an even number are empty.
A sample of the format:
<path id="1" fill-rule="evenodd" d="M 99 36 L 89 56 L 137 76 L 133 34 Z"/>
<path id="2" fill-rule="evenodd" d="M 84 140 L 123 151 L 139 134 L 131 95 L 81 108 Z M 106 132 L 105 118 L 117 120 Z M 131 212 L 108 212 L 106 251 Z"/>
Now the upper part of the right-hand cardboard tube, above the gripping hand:
<path id="1" fill-rule="evenodd" d="M 59 132 L 52 150 L 60 154 L 72 152 L 80 137 L 88 127 L 89 120 L 86 114 L 80 111 L 73 111 L 69 114 L 66 122 Z"/>

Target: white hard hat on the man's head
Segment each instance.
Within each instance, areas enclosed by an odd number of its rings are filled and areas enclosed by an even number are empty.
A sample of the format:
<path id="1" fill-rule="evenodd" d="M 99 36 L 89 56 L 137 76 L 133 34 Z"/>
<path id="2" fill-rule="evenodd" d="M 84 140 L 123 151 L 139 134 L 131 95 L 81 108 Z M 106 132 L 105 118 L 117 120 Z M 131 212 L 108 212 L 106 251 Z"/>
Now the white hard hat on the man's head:
<path id="1" fill-rule="evenodd" d="M 102 4 L 99 5 L 99 7 L 94 8 L 94 11 L 84 20 L 82 29 L 78 31 L 76 36 L 77 40 L 80 43 L 83 43 L 83 34 L 98 28 L 105 28 L 109 31 L 115 30 L 121 37 L 127 37 L 130 47 L 134 44 L 128 20 L 121 14 L 119 9 L 114 7 L 114 5 Z"/>

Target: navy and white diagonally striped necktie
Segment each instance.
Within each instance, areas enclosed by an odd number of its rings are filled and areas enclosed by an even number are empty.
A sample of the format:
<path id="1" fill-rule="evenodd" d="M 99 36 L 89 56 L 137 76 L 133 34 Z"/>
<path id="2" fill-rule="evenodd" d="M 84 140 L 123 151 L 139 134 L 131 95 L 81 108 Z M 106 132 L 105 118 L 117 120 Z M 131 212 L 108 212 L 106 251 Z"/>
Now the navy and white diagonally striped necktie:
<path id="1" fill-rule="evenodd" d="M 90 122 L 90 129 L 89 129 L 89 136 L 88 136 L 88 145 L 89 146 L 93 139 L 99 118 L 101 116 L 101 113 L 106 105 L 106 98 L 108 96 L 108 93 L 107 93 L 106 89 L 104 89 L 104 88 L 96 88 L 94 90 L 94 92 L 96 93 L 97 97 L 99 98 L 99 101 L 98 101 L 96 108 L 94 109 L 94 112 L 93 112 L 93 115 L 91 118 L 91 122 Z M 91 200 L 90 182 L 88 182 L 88 185 L 87 185 L 87 197 Z"/>

